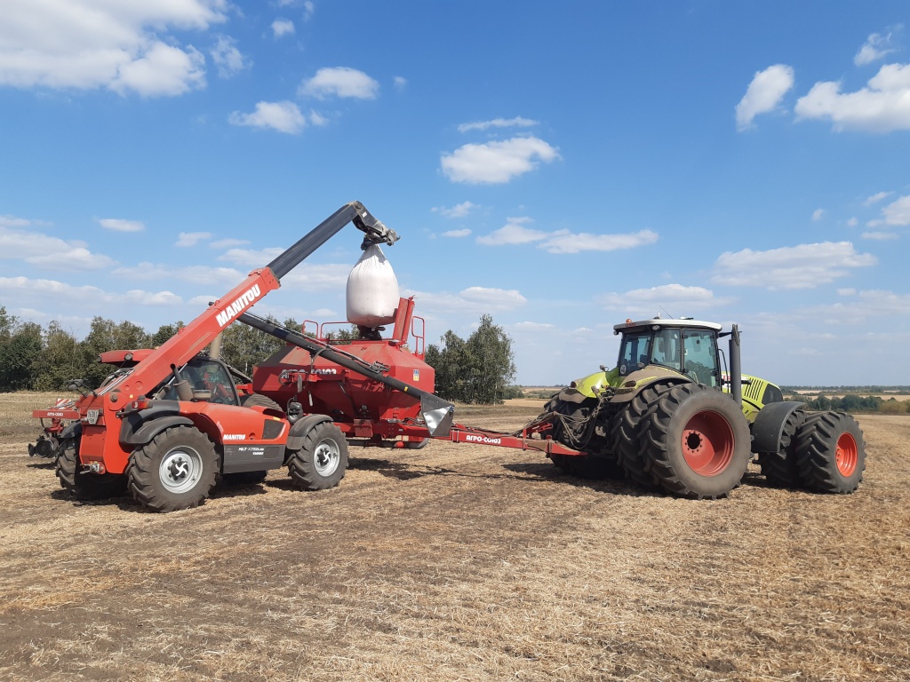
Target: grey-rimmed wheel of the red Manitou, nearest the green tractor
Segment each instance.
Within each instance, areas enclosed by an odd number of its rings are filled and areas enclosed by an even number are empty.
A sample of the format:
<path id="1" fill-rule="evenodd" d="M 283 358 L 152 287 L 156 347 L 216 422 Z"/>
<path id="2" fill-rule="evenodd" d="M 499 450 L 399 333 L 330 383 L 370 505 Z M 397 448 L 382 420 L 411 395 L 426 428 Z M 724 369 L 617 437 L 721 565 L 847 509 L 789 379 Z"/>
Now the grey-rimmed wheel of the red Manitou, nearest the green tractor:
<path id="1" fill-rule="evenodd" d="M 348 441 L 331 422 L 320 422 L 303 437 L 288 459 L 288 473 L 301 490 L 338 486 L 348 468 Z"/>

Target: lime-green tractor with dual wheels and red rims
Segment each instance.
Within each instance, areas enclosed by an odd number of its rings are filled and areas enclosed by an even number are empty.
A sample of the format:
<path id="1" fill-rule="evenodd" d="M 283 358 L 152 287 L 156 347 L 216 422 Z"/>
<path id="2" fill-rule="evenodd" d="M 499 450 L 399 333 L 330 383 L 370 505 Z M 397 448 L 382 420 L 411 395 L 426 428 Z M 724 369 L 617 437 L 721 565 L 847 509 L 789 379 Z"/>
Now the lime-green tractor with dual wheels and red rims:
<path id="1" fill-rule="evenodd" d="M 863 432 L 842 412 L 809 413 L 740 369 L 740 335 L 689 318 L 632 322 L 610 370 L 573 381 L 541 419 L 581 456 L 551 455 L 587 478 L 626 476 L 693 499 L 727 496 L 753 456 L 775 486 L 851 493 L 863 479 Z M 729 371 L 718 339 L 729 336 Z"/>

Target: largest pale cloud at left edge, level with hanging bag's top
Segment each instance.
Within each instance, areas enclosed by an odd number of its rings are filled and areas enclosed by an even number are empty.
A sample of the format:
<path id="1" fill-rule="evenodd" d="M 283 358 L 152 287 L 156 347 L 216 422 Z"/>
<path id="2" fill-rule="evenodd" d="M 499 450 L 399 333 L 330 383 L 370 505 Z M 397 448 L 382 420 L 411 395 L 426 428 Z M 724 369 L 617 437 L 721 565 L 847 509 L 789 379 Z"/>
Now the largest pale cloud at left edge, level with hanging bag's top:
<path id="1" fill-rule="evenodd" d="M 89 251 L 84 242 L 5 226 L 0 226 L 0 259 L 21 259 L 32 266 L 60 272 L 100 270 L 116 265 L 113 258 Z"/>

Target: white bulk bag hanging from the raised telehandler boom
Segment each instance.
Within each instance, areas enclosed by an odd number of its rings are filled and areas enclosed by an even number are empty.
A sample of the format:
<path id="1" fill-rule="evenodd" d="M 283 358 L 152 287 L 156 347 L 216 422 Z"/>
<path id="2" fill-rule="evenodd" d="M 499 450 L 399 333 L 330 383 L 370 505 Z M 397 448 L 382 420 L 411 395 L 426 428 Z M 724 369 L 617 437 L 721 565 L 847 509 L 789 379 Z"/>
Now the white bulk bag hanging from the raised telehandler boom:
<path id="1" fill-rule="evenodd" d="M 347 297 L 350 324 L 380 326 L 395 321 L 398 279 L 379 246 L 368 246 L 350 271 Z"/>

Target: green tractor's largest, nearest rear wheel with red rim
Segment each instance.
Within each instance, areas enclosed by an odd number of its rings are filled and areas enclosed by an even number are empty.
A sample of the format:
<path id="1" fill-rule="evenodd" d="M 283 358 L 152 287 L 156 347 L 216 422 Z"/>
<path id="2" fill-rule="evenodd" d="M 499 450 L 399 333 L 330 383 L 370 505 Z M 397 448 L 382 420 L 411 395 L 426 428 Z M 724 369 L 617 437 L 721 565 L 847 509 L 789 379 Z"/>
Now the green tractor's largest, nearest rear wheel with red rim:
<path id="1" fill-rule="evenodd" d="M 729 395 L 685 384 L 663 393 L 642 419 L 642 452 L 668 493 L 691 499 L 729 495 L 752 456 L 752 435 Z"/>

